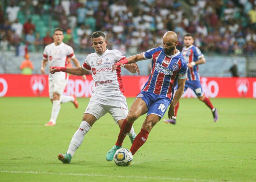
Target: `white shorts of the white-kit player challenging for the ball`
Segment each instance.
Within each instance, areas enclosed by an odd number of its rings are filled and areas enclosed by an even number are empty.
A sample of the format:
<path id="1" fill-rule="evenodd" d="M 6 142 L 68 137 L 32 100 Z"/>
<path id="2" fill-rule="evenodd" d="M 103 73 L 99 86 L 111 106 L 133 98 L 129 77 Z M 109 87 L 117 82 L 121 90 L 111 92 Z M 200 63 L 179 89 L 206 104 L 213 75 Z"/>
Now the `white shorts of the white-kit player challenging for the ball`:
<path id="1" fill-rule="evenodd" d="M 126 98 L 123 94 L 119 94 L 115 98 L 92 96 L 84 113 L 95 116 L 97 120 L 109 113 L 117 123 L 117 121 L 125 119 L 128 114 Z"/>

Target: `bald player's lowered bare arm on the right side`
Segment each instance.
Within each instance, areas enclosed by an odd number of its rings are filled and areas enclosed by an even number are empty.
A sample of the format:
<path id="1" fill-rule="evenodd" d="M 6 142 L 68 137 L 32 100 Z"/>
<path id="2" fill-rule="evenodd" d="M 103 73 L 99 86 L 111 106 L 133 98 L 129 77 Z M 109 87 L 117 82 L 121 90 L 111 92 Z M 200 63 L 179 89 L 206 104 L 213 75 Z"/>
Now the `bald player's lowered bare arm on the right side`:
<path id="1" fill-rule="evenodd" d="M 174 95 L 174 98 L 172 100 L 172 103 L 170 104 L 169 111 L 168 111 L 168 117 L 172 119 L 173 116 L 175 116 L 175 106 L 179 102 L 185 87 L 186 79 L 178 79 L 178 89 Z"/>

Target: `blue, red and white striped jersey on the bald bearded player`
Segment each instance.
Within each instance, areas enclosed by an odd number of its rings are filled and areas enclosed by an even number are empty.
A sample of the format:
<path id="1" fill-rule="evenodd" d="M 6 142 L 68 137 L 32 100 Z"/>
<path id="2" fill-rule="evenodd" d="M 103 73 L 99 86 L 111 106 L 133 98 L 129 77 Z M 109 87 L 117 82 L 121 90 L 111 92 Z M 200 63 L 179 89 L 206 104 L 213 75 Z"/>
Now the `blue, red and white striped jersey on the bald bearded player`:
<path id="1" fill-rule="evenodd" d="M 180 51 L 172 56 L 165 54 L 162 47 L 143 53 L 145 59 L 152 58 L 152 70 L 142 91 L 171 98 L 177 79 L 187 78 L 187 62 Z"/>

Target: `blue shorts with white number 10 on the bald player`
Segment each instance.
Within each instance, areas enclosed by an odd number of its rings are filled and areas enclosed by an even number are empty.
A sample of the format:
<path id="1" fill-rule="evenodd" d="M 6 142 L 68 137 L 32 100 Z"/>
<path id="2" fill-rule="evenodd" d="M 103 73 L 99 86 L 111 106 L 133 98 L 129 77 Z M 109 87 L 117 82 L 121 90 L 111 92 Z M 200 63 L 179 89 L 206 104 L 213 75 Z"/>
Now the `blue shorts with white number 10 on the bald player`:
<path id="1" fill-rule="evenodd" d="M 147 104 L 147 115 L 155 114 L 161 118 L 164 116 L 166 109 L 171 104 L 171 100 L 168 97 L 145 91 L 141 91 L 136 98 L 141 98 Z"/>

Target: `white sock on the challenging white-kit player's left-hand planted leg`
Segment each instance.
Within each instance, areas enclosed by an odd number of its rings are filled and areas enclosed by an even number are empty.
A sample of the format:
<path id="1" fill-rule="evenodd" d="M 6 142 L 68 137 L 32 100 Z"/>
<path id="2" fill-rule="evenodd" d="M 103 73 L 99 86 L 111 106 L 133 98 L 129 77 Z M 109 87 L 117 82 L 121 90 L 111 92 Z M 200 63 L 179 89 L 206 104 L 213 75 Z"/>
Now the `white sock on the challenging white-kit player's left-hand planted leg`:
<path id="1" fill-rule="evenodd" d="M 71 154 L 73 157 L 75 151 L 81 146 L 85 134 L 91 129 L 91 126 L 86 121 L 82 121 L 79 129 L 75 132 L 68 147 L 67 154 Z"/>

